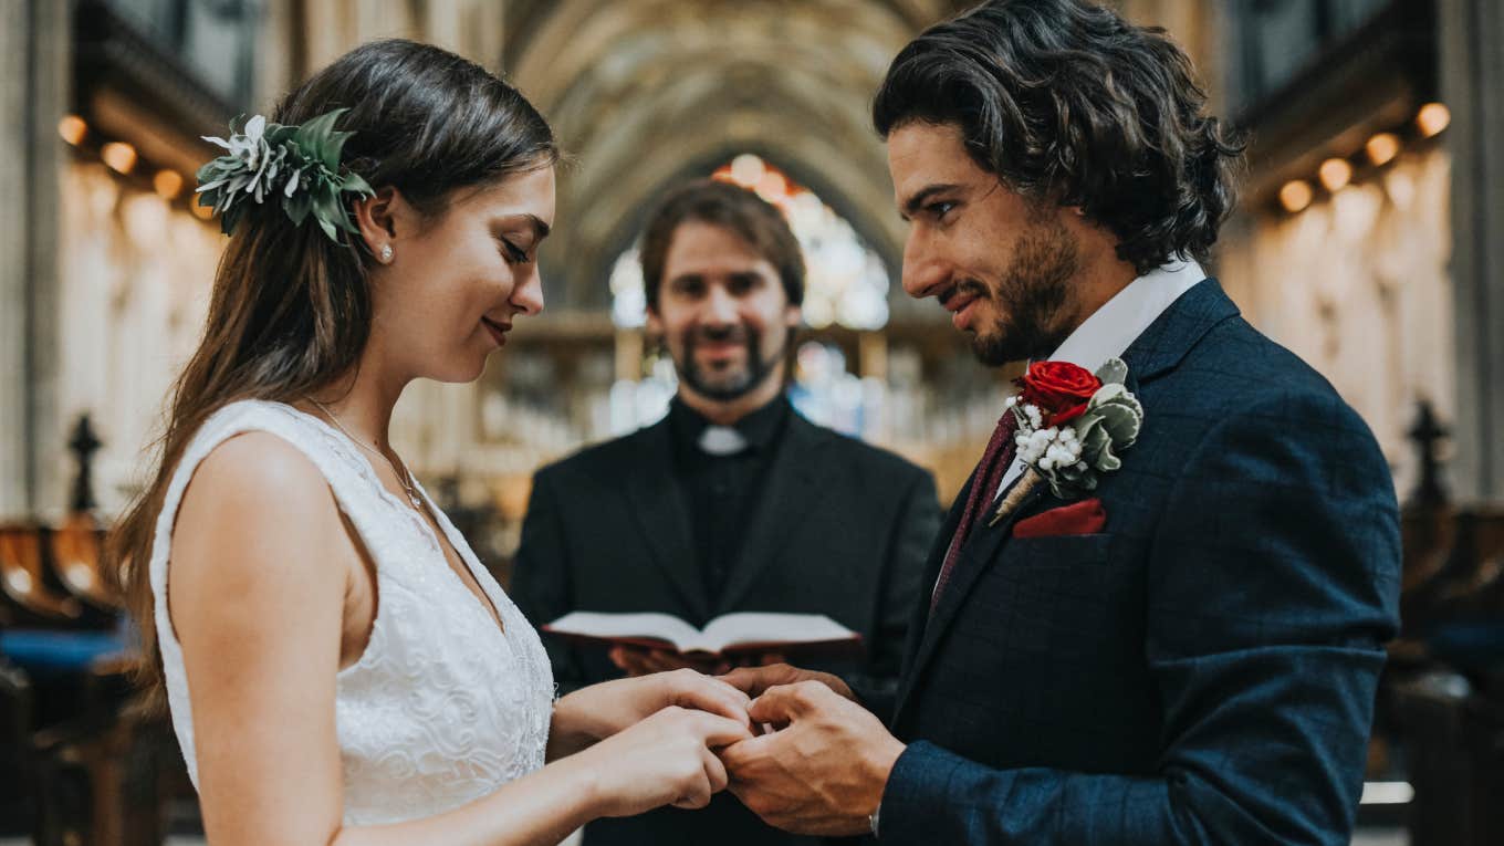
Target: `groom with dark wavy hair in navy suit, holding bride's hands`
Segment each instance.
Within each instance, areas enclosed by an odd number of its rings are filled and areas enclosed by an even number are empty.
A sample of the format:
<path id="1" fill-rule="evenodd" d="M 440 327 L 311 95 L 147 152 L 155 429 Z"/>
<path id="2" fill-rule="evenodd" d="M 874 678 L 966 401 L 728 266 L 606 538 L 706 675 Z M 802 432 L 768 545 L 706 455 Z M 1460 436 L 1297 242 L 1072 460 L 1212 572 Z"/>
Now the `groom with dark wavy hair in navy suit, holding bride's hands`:
<path id="1" fill-rule="evenodd" d="M 890 726 L 835 676 L 726 676 L 776 729 L 722 753 L 769 822 L 1349 841 L 1396 629 L 1393 485 L 1358 415 L 1197 265 L 1239 149 L 1190 71 L 1078 0 L 993 0 L 893 60 L 874 120 L 904 289 L 982 361 L 1033 364 L 929 552 Z"/>

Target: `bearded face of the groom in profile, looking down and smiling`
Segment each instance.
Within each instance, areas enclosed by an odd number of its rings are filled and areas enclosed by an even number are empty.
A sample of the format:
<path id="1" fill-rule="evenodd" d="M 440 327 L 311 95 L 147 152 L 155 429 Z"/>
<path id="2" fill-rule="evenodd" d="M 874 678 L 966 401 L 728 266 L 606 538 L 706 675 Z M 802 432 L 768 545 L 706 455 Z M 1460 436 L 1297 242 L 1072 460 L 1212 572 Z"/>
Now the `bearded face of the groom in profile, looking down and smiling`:
<path id="1" fill-rule="evenodd" d="M 1050 355 L 1078 322 L 1080 215 L 1009 190 L 951 123 L 893 129 L 887 164 L 908 221 L 904 291 L 934 297 L 985 364 Z"/>

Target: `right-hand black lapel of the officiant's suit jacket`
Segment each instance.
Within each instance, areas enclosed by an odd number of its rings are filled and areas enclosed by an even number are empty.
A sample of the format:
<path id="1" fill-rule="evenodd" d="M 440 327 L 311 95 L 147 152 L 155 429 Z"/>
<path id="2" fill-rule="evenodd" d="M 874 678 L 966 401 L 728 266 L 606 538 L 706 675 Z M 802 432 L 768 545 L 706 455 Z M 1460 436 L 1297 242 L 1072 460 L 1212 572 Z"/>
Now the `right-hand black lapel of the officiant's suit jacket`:
<path id="1" fill-rule="evenodd" d="M 817 447 L 830 435 L 793 409 L 788 412 L 787 426 L 788 431 L 784 432 L 773 462 L 767 467 L 763 491 L 752 507 L 741 549 L 731 565 L 731 572 L 726 574 L 726 587 L 713 604 L 716 614 L 735 608 L 737 602 L 746 598 L 757 577 L 778 558 L 794 536 L 794 530 L 814 510 L 821 461 Z"/>

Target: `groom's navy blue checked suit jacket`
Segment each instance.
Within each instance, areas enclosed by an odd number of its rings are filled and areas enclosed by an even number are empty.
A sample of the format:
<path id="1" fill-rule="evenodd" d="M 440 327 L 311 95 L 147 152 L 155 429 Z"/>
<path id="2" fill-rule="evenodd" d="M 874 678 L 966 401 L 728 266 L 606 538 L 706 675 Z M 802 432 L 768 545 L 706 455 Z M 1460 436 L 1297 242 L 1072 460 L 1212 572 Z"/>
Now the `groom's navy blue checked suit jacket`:
<path id="1" fill-rule="evenodd" d="M 1145 421 L 1102 531 L 1011 537 L 1065 504 L 1039 485 L 916 611 L 881 843 L 1349 841 L 1397 626 L 1388 467 L 1215 280 L 1123 360 Z"/>

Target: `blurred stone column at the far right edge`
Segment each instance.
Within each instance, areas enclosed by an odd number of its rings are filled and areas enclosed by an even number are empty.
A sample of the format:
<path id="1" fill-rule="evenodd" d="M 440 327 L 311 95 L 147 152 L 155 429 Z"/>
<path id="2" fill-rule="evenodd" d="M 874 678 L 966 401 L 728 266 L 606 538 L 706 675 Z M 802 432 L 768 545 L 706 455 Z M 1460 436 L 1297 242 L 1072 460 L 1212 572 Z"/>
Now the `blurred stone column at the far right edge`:
<path id="1" fill-rule="evenodd" d="M 1439 0 L 1441 96 L 1451 110 L 1457 420 L 1453 494 L 1504 501 L 1504 6 Z"/>

